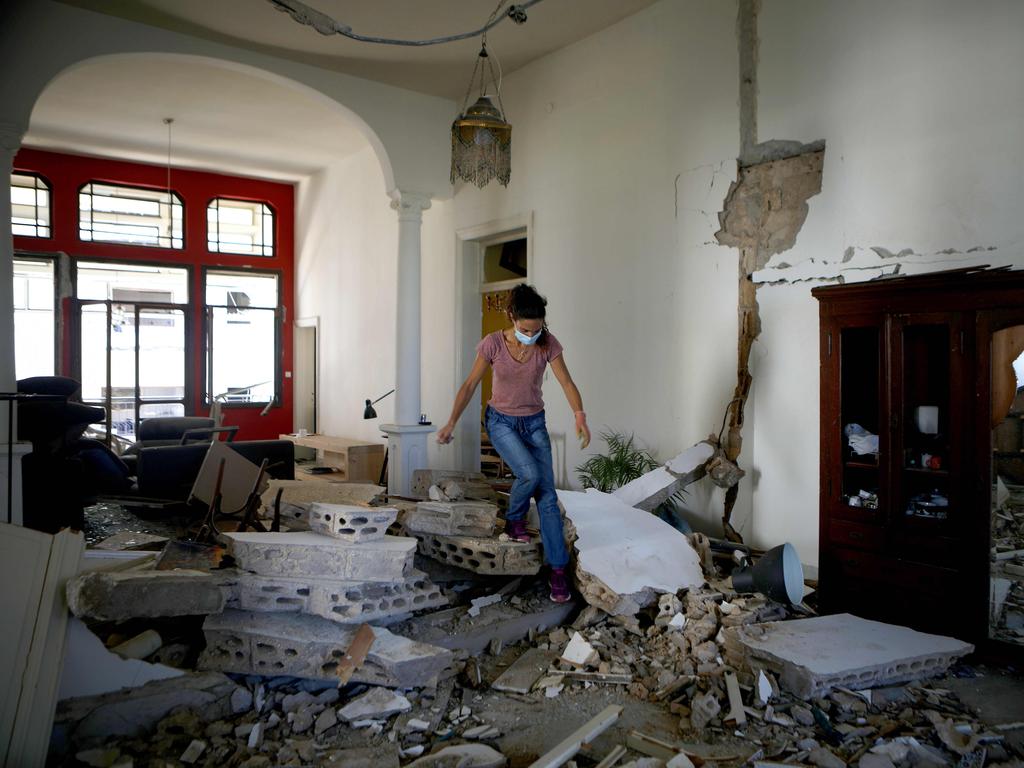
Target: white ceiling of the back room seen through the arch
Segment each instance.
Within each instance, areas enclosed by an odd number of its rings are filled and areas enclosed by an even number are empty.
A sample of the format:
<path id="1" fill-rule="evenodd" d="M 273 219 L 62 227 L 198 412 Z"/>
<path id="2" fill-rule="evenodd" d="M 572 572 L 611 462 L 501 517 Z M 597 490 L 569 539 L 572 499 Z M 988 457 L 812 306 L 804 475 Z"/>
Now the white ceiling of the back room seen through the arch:
<path id="1" fill-rule="evenodd" d="M 65 72 L 32 113 L 25 143 L 144 163 L 297 180 L 368 146 L 301 92 L 203 61 L 98 59 Z"/>

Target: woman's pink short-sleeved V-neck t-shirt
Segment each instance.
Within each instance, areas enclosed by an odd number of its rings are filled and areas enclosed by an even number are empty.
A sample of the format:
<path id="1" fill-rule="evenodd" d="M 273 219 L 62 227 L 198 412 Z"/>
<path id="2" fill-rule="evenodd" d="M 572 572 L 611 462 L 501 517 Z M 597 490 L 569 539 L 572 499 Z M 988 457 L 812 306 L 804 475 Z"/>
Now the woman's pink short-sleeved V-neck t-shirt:
<path id="1" fill-rule="evenodd" d="M 519 362 L 509 351 L 502 331 L 483 337 L 476 345 L 476 353 L 490 364 L 494 370 L 492 395 L 487 404 L 506 416 L 532 416 L 544 410 L 541 382 L 544 367 L 562 353 L 558 339 L 544 332 L 547 344 L 538 342 L 525 362 Z"/>

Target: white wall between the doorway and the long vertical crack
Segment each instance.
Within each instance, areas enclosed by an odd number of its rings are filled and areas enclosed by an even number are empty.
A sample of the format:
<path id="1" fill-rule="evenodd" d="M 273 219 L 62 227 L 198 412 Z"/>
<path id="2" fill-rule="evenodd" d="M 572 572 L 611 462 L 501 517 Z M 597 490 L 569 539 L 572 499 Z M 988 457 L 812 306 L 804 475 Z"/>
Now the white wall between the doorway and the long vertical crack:
<path id="1" fill-rule="evenodd" d="M 511 183 L 455 196 L 458 227 L 534 212 L 531 282 L 592 428 L 663 460 L 718 430 L 735 383 L 736 255 L 712 244 L 738 146 L 735 12 L 658 3 L 505 78 Z M 556 477 L 575 484 L 550 375 L 545 399 Z"/>

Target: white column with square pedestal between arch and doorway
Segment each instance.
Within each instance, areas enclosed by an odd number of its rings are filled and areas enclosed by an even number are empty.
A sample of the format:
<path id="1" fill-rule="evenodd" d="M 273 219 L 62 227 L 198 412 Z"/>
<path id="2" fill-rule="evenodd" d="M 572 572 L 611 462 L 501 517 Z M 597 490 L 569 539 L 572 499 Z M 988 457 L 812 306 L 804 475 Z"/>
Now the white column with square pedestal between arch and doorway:
<path id="1" fill-rule="evenodd" d="M 427 435 L 434 431 L 420 426 L 420 230 L 430 196 L 398 189 L 391 207 L 398 214 L 395 423 L 381 430 L 388 436 L 388 493 L 409 496 L 413 471 L 427 466 Z"/>

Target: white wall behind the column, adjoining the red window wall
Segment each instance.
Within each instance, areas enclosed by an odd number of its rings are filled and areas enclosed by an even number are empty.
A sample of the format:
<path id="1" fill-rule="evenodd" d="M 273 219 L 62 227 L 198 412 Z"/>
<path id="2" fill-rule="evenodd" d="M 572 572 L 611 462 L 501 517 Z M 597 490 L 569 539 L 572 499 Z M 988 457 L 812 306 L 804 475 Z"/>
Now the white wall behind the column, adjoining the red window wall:
<path id="1" fill-rule="evenodd" d="M 362 418 L 366 398 L 394 387 L 395 375 L 398 221 L 380 165 L 367 145 L 304 180 L 297 198 L 296 316 L 316 316 L 321 329 L 317 427 L 325 434 L 383 443 L 378 426 L 393 421 L 394 395 L 375 406 L 378 419 Z M 429 275 L 438 284 L 423 295 L 424 339 L 447 332 L 438 323 L 451 304 L 453 284 L 437 275 L 453 271 L 450 209 L 451 203 L 434 202 L 423 216 L 424 283 Z M 452 355 L 450 346 L 424 347 L 425 409 L 451 391 Z M 432 375 L 435 370 L 443 376 Z"/>

